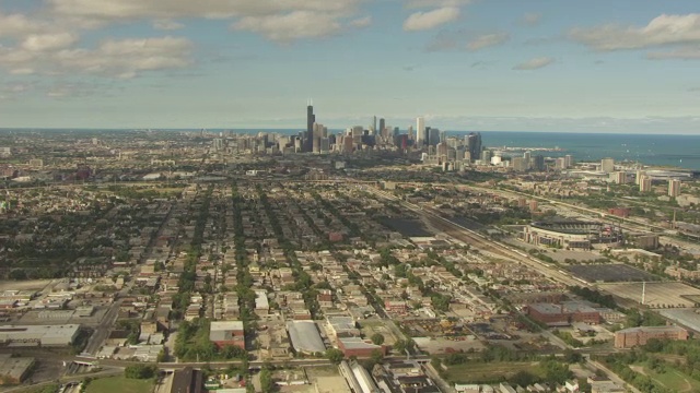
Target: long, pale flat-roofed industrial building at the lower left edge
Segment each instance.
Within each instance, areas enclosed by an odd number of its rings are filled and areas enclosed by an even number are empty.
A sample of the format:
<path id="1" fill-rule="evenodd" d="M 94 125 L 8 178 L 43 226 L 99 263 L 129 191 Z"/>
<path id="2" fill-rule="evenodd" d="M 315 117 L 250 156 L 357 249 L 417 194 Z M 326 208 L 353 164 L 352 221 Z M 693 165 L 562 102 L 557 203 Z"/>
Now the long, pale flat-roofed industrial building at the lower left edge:
<path id="1" fill-rule="evenodd" d="M 1 325 L 0 344 L 9 346 L 69 346 L 80 331 L 79 324 Z"/>

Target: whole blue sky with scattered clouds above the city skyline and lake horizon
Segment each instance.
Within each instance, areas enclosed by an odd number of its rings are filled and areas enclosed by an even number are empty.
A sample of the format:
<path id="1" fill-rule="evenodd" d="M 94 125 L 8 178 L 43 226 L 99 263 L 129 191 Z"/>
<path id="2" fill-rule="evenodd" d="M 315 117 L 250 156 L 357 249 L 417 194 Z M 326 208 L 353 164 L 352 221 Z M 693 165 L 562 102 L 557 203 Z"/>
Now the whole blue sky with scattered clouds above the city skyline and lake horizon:
<path id="1" fill-rule="evenodd" d="M 700 134 L 697 0 L 0 0 L 0 128 Z"/>

